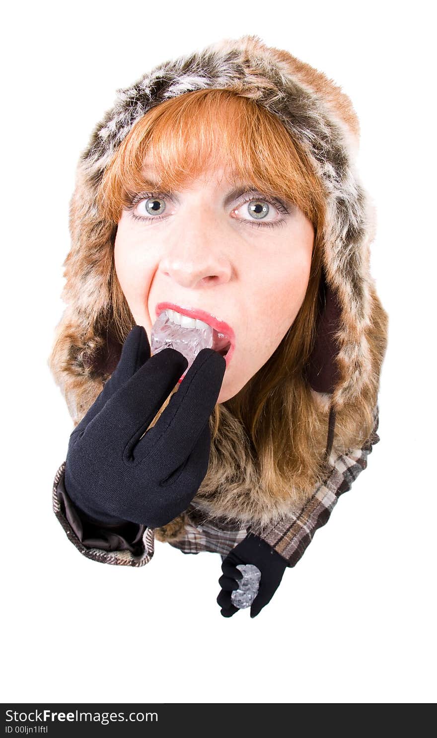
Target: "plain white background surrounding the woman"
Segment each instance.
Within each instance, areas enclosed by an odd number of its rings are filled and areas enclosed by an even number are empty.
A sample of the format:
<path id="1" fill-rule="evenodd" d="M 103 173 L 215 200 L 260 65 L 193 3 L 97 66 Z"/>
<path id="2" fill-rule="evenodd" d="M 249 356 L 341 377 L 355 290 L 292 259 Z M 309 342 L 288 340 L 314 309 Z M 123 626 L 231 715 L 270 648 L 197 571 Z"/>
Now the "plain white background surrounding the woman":
<path id="1" fill-rule="evenodd" d="M 436 117 L 430 4 L 8 4 L 1 49 L 5 702 L 425 703 L 436 689 Z M 47 367 L 75 165 L 115 90 L 253 33 L 342 86 L 378 210 L 390 316 L 379 436 L 257 618 L 223 618 L 217 554 L 81 556 L 52 513 L 72 421 Z"/>

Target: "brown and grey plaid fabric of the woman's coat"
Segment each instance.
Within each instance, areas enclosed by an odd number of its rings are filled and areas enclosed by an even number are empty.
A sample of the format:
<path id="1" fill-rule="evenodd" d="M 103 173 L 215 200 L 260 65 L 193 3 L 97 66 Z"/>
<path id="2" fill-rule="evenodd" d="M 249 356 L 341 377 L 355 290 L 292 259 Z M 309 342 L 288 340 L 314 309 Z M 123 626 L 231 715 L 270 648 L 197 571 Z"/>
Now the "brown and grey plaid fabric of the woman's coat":
<path id="1" fill-rule="evenodd" d="M 352 483 L 367 466 L 368 455 L 372 446 L 379 442 L 376 433 L 379 424 L 379 408 L 376 406 L 374 414 L 374 429 L 371 437 L 361 449 L 351 449 L 348 454 L 331 452 L 328 464 L 331 470 L 326 480 L 317 487 L 309 501 L 300 509 L 284 517 L 279 523 L 266 528 L 260 537 L 266 541 L 283 559 L 289 567 L 295 566 L 306 547 L 312 541 L 315 531 L 328 522 L 331 511 L 337 503 L 340 494 L 351 489 Z M 78 548 L 83 556 L 106 564 L 125 566 L 143 566 L 154 555 L 154 531 L 146 528 L 143 537 L 145 550 L 141 556 L 134 556 L 130 551 L 101 551 L 98 548 L 86 548 L 75 536 L 74 531 L 66 520 L 59 504 L 57 488 L 65 462 L 60 466 L 53 485 L 52 503 L 55 515 L 61 523 L 66 535 Z M 186 522 L 184 536 L 175 541 L 168 541 L 173 548 L 179 548 L 184 554 L 199 554 L 200 551 L 221 554 L 225 556 L 232 548 L 241 542 L 247 535 L 247 528 L 235 524 L 223 523 L 215 520 L 216 525 L 210 522 L 200 522 L 196 508 L 189 506 L 185 512 Z"/>

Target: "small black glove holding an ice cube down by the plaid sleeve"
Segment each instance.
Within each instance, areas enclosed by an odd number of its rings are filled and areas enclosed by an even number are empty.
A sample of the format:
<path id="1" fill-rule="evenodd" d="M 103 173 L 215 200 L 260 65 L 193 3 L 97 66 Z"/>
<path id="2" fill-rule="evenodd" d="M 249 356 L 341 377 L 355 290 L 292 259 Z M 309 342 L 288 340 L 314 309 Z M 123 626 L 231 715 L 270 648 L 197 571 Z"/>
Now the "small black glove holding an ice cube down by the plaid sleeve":
<path id="1" fill-rule="evenodd" d="M 238 582 L 243 576 L 236 568 L 237 564 L 253 564 L 261 571 L 258 594 L 250 606 L 250 617 L 255 618 L 272 599 L 288 564 L 286 559 L 263 539 L 252 533 L 247 534 L 221 563 L 223 576 L 219 579 L 221 593 L 217 597 L 217 603 L 222 608 L 220 612 L 224 618 L 230 618 L 238 612 L 238 607 L 235 607 L 230 599 L 233 590 L 238 590 Z"/>

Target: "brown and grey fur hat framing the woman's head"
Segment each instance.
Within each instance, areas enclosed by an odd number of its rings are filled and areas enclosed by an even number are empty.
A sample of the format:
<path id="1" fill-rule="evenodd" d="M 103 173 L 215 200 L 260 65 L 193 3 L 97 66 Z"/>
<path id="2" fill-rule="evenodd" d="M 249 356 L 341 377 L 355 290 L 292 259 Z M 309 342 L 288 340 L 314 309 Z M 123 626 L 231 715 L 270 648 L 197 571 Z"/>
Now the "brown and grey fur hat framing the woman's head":
<path id="1" fill-rule="evenodd" d="M 323 184 L 324 308 L 306 368 L 309 384 L 337 410 L 377 382 L 379 365 L 372 355 L 381 358 L 385 337 L 379 337 L 379 350 L 372 351 L 370 331 L 376 317 L 382 325 L 385 311 L 369 270 L 375 213 L 355 168 L 357 116 L 349 98 L 322 72 L 265 46 L 255 35 L 245 35 L 162 63 L 131 87 L 119 89 L 113 108 L 97 123 L 80 156 L 70 205 L 72 246 L 64 262 L 67 308 L 56 329 L 58 348 L 51 361 L 76 423 L 114 370 L 122 348 L 108 318 L 109 244 L 114 244 L 116 229 L 97 210 L 103 173 L 149 108 L 208 88 L 233 90 L 278 116 Z"/>

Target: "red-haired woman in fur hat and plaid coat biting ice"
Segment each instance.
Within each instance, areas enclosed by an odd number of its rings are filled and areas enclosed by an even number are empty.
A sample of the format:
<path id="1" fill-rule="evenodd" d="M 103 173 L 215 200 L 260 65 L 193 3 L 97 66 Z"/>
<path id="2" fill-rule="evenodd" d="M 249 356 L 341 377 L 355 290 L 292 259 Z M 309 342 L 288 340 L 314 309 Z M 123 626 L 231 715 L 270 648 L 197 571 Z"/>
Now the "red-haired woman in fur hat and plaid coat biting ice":
<path id="1" fill-rule="evenodd" d="M 255 617 L 365 469 L 388 316 L 358 137 L 331 80 L 256 36 L 118 91 L 80 157 L 49 358 L 75 423 L 53 507 L 83 555 L 217 552 L 226 617 L 254 564 Z M 151 356 L 165 309 L 227 354 Z"/>

